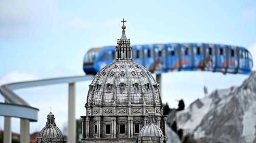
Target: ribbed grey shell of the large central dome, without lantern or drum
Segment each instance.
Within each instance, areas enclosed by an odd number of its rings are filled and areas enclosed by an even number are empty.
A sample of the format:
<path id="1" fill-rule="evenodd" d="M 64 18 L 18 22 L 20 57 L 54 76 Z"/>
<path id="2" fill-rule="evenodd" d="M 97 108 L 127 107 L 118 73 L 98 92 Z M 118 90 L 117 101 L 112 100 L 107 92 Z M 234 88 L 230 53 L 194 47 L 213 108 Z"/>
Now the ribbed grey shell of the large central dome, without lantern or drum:
<path id="1" fill-rule="evenodd" d="M 105 66 L 89 85 L 87 105 L 161 105 L 159 86 L 142 65 L 129 60 Z"/>

